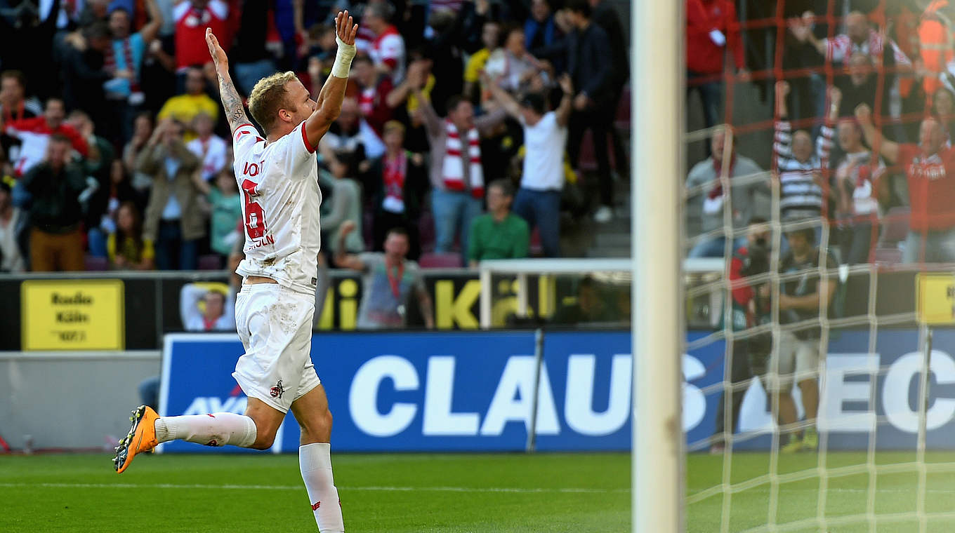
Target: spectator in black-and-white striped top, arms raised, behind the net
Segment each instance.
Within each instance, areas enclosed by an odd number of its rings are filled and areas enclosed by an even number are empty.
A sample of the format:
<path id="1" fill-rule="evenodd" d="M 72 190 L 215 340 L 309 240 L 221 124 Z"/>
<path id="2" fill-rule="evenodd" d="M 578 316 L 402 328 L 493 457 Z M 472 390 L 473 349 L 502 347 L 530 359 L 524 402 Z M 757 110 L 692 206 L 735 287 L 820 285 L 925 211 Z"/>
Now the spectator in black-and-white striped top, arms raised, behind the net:
<path id="1" fill-rule="evenodd" d="M 813 218 L 822 214 L 823 205 L 831 191 L 823 172 L 828 172 L 829 153 L 832 150 L 832 121 L 835 113 L 822 127 L 813 149 L 813 137 L 805 130 L 792 133 L 786 97 L 789 83 L 776 82 L 774 164 L 779 175 L 780 217 L 786 219 Z M 838 105 L 836 106 L 838 110 Z"/>

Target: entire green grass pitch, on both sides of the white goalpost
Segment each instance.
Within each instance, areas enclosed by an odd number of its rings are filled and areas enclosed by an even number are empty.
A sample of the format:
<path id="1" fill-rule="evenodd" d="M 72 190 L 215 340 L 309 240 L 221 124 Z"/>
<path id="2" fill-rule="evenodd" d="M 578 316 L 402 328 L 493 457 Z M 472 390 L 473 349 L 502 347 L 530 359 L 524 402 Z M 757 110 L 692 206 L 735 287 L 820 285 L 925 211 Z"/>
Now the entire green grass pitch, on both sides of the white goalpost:
<path id="1" fill-rule="evenodd" d="M 165 455 L 138 458 L 118 475 L 108 455 L 0 456 L 0 532 L 315 531 L 294 455 Z M 769 454 L 737 453 L 732 483 L 758 480 Z M 834 474 L 865 464 L 864 453 L 830 452 Z M 899 465 L 876 478 L 875 531 L 919 531 L 914 453 L 877 455 Z M 335 480 L 350 533 L 628 532 L 629 454 L 335 454 Z M 927 531 L 955 531 L 955 454 L 926 455 Z M 779 486 L 780 531 L 870 531 L 868 474 L 828 479 L 819 498 L 815 454 L 779 458 L 780 474 L 806 479 Z M 690 455 L 688 494 L 719 484 L 722 456 Z M 730 531 L 768 522 L 768 483 L 732 495 Z M 687 530 L 720 530 L 722 494 L 687 507 Z M 661 532 L 668 533 L 668 532 Z"/>

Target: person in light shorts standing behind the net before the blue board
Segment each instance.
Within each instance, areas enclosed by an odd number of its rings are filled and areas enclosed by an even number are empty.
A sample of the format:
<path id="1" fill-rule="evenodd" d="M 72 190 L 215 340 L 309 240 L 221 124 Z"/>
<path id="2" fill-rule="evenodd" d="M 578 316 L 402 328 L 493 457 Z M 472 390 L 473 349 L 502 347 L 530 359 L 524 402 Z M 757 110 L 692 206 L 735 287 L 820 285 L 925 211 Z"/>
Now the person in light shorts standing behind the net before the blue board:
<path id="1" fill-rule="evenodd" d="M 816 416 L 819 407 L 819 326 L 796 329 L 803 321 L 818 323 L 820 314 L 827 317 L 828 312 L 820 311 L 832 305 L 836 292 L 836 274 L 823 282 L 818 274 L 823 269 L 836 268 L 836 260 L 821 252 L 815 246 L 816 233 L 812 228 L 795 230 L 786 234 L 789 252 L 779 258 L 779 274 L 787 276 L 779 283 L 779 323 L 783 330 L 775 340 L 778 347 L 772 350 L 769 361 L 769 375 L 763 385 L 767 392 L 776 396 L 778 422 L 780 427 L 792 427 L 796 423 L 796 401 L 790 391 L 793 381 L 802 395 L 802 407 L 805 423 L 808 425 L 799 440 L 791 433 L 790 441 L 780 451 L 794 452 L 802 449 L 815 450 L 818 447 Z M 796 277 L 796 274 L 802 274 Z M 762 297 L 769 297 L 772 291 L 764 286 Z M 793 325 L 790 325 L 793 324 Z"/>

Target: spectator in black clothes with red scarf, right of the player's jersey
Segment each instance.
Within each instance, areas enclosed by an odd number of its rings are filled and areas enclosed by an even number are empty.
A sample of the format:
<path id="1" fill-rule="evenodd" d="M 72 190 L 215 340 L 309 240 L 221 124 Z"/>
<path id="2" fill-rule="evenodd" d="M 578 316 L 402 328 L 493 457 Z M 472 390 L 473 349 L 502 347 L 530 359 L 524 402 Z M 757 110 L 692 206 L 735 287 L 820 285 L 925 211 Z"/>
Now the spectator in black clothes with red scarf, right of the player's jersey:
<path id="1" fill-rule="evenodd" d="M 385 123 L 386 152 L 371 163 L 374 218 L 374 251 L 383 250 L 385 236 L 396 227 L 407 228 L 411 240 L 408 256 L 421 254 L 417 220 L 421 215 L 421 197 L 428 187 L 424 156 L 404 149 L 405 127 L 396 120 Z"/>

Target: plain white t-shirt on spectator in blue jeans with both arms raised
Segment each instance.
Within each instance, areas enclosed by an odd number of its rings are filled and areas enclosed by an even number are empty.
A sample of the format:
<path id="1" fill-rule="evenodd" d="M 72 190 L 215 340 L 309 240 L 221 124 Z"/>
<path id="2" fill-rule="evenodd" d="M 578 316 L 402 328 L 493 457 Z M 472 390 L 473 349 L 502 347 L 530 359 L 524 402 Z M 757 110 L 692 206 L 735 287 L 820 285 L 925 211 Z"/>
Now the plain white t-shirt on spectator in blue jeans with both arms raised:
<path id="1" fill-rule="evenodd" d="M 557 123 L 557 113 L 548 112 L 533 126 L 524 128 L 524 165 L 520 186 L 532 191 L 560 191 L 563 188 L 563 149 L 567 127 Z"/>

